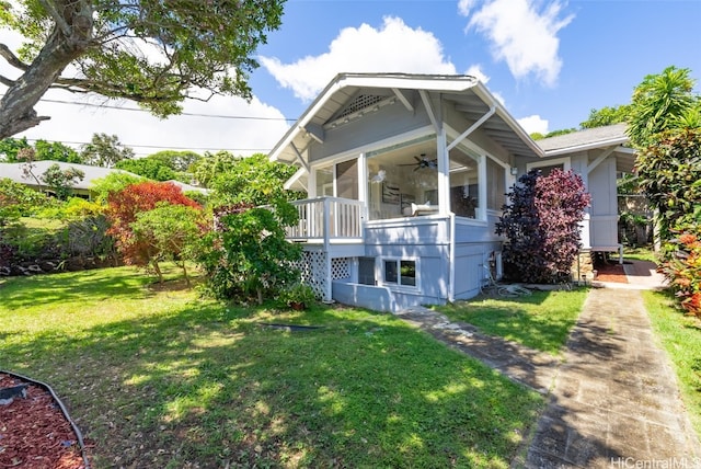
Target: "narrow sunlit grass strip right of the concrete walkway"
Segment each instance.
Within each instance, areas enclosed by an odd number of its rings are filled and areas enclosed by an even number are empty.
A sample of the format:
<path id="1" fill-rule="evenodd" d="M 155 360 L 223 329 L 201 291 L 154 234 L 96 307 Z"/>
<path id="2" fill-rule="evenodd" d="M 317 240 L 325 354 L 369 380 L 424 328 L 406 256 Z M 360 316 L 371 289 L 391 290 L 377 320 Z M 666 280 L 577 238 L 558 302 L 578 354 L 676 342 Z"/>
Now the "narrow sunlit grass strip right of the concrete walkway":
<path id="1" fill-rule="evenodd" d="M 671 359 L 689 416 L 701 437 L 701 320 L 683 316 L 668 293 L 644 291 L 653 329 Z"/>

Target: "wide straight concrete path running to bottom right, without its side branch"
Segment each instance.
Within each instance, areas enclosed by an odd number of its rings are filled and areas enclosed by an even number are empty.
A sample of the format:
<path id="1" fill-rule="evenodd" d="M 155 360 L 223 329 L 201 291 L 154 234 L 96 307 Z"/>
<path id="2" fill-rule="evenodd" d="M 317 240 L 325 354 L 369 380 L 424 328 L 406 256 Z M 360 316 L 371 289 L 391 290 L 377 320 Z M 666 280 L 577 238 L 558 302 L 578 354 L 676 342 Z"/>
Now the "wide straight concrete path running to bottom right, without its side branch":
<path id="1" fill-rule="evenodd" d="M 701 468 L 701 445 L 640 290 L 593 289 L 526 468 Z"/>

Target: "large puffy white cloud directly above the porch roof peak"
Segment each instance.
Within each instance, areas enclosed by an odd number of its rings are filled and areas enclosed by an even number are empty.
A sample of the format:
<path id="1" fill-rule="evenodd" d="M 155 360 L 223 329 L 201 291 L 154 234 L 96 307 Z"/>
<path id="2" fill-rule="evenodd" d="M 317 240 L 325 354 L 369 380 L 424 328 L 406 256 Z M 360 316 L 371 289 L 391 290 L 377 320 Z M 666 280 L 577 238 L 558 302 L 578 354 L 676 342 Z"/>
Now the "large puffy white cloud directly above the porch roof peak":
<path id="1" fill-rule="evenodd" d="M 340 72 L 456 73 L 433 33 L 412 28 L 400 18 L 384 18 L 382 26 L 346 27 L 329 52 L 307 56 L 292 64 L 276 57 L 260 57 L 261 65 L 284 88 L 311 101 Z"/>

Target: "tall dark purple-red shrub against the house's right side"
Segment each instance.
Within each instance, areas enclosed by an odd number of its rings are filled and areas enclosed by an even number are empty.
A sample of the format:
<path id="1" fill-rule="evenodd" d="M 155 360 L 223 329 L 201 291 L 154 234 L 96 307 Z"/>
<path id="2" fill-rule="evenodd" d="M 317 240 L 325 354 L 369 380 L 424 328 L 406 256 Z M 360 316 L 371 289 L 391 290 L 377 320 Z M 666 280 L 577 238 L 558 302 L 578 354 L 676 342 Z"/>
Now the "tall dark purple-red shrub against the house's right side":
<path id="1" fill-rule="evenodd" d="M 547 176 L 532 170 L 519 178 L 508 197 L 496 224 L 496 233 L 508 240 L 506 276 L 532 283 L 568 279 L 579 251 L 579 222 L 590 202 L 582 178 L 560 169 Z"/>

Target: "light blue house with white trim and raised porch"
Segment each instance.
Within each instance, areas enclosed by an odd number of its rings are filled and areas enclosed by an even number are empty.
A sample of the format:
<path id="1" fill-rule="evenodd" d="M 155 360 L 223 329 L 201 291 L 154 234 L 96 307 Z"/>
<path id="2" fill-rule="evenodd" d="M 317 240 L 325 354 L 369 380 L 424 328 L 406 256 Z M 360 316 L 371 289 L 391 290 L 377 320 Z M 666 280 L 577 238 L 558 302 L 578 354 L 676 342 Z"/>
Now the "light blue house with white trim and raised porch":
<path id="1" fill-rule="evenodd" d="M 495 224 L 531 168 L 572 168 L 605 190 L 583 244 L 618 248 L 606 230 L 616 160 L 630 159 L 621 144 L 589 135 L 541 148 L 473 77 L 341 73 L 269 157 L 297 165 L 287 187 L 309 196 L 288 230 L 306 282 L 324 300 L 397 311 L 473 297 L 501 275 Z"/>

